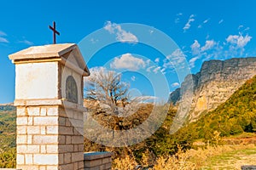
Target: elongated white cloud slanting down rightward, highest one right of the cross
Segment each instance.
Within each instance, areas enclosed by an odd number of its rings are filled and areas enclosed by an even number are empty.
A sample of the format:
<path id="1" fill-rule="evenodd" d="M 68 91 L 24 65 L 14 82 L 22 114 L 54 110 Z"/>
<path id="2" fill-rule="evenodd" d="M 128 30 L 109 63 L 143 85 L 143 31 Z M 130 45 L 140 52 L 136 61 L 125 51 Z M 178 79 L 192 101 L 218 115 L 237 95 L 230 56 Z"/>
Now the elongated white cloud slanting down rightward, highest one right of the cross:
<path id="1" fill-rule="evenodd" d="M 111 23 L 111 21 L 107 21 L 104 29 L 107 30 L 111 34 L 116 35 L 116 40 L 119 42 L 130 42 L 135 43 L 138 42 L 137 37 L 129 31 L 125 31 L 122 29 L 120 25 L 115 23 Z"/>

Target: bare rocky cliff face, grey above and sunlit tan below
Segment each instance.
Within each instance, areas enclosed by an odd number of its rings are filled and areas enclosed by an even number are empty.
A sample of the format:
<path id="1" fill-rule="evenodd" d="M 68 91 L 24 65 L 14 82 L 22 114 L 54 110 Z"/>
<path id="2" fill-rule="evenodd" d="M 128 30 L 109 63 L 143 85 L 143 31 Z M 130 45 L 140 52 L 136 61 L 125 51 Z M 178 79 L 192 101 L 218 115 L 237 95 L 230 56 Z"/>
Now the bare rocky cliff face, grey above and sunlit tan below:
<path id="1" fill-rule="evenodd" d="M 202 112 L 212 111 L 224 103 L 254 75 L 256 75 L 256 58 L 206 61 L 201 66 L 200 72 L 186 77 L 181 88 L 170 94 L 169 102 L 181 104 L 185 96 L 191 94 L 186 118 L 189 118 L 189 122 L 195 121 Z M 181 118 L 184 116 L 179 116 L 179 119 Z"/>

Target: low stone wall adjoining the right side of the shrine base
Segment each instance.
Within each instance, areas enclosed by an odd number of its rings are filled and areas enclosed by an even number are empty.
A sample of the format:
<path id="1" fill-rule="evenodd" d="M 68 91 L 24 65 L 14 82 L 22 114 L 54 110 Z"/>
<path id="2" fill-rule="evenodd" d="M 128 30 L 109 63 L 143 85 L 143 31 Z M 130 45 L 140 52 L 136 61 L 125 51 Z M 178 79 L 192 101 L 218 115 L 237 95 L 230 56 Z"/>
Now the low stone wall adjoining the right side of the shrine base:
<path id="1" fill-rule="evenodd" d="M 84 170 L 110 170 L 112 163 L 111 152 L 84 153 Z"/>

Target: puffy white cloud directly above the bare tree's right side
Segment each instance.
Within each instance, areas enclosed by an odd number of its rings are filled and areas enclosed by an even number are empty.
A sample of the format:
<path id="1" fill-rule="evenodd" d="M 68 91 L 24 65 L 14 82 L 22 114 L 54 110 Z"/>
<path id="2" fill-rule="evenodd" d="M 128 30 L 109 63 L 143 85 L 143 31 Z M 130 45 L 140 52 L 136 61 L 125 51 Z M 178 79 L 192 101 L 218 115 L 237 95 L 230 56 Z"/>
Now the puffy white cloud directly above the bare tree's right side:
<path id="1" fill-rule="evenodd" d="M 113 69 L 128 69 L 131 71 L 137 71 L 145 68 L 146 62 L 143 59 L 134 57 L 132 54 L 123 54 L 120 58 L 113 59 L 113 63 L 110 67 Z"/>

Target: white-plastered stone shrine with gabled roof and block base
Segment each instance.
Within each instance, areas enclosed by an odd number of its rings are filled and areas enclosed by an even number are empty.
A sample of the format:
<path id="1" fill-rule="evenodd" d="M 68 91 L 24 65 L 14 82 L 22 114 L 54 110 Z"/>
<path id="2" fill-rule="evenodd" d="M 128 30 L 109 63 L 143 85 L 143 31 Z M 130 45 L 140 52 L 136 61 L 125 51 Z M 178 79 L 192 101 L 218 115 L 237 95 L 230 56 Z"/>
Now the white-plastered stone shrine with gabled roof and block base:
<path id="1" fill-rule="evenodd" d="M 97 153 L 93 159 L 84 155 L 83 77 L 90 71 L 78 46 L 31 47 L 9 55 L 9 59 L 16 72 L 16 168 L 110 169 L 110 153 Z"/>

